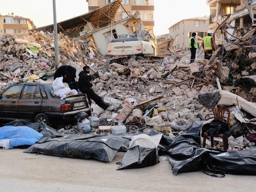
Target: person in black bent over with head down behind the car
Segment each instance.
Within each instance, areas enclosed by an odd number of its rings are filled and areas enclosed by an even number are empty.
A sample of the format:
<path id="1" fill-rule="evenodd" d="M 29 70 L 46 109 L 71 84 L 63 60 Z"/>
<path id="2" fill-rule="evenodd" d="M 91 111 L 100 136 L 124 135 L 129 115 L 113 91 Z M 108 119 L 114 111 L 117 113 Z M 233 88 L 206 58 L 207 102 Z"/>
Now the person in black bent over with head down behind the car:
<path id="1" fill-rule="evenodd" d="M 76 78 L 75 67 L 72 67 L 70 65 L 60 66 L 54 74 L 54 80 L 58 77 L 63 77 L 62 82 L 67 83 L 70 89 L 75 89 L 78 91 L 76 80 L 75 80 Z"/>

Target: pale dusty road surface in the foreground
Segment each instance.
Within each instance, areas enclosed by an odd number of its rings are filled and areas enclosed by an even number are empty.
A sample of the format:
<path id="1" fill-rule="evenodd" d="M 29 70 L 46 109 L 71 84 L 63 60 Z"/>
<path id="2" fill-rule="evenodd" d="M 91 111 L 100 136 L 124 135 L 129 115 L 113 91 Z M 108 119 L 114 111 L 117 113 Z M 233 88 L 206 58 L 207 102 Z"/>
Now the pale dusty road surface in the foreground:
<path id="1" fill-rule="evenodd" d="M 203 171 L 172 175 L 168 161 L 143 169 L 116 170 L 110 163 L 0 150 L 0 192 L 241 192 L 255 190 L 255 176 L 207 176 Z"/>

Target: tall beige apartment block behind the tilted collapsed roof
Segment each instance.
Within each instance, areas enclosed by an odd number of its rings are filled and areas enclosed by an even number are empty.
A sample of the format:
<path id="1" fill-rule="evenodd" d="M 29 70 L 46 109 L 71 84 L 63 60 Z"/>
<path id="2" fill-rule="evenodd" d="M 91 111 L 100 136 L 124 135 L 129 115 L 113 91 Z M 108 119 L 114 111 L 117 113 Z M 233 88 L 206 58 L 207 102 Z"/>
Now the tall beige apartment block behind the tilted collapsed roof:
<path id="1" fill-rule="evenodd" d="M 114 0 L 86 0 L 88 2 L 89 11 L 103 7 Z M 146 30 L 150 33 L 154 32 L 154 0 L 123 0 L 122 6 L 116 12 L 115 21 L 125 19 L 128 15 L 134 15 L 138 10 L 140 17 Z"/>

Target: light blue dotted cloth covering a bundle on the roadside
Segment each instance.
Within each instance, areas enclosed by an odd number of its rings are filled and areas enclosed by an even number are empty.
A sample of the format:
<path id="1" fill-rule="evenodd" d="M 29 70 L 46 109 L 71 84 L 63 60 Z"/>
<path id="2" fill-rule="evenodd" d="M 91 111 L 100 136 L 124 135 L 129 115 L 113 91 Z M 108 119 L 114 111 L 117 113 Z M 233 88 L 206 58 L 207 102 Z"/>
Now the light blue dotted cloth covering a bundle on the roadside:
<path id="1" fill-rule="evenodd" d="M 43 135 L 26 126 L 4 126 L 0 128 L 0 146 L 5 149 L 33 145 Z"/>

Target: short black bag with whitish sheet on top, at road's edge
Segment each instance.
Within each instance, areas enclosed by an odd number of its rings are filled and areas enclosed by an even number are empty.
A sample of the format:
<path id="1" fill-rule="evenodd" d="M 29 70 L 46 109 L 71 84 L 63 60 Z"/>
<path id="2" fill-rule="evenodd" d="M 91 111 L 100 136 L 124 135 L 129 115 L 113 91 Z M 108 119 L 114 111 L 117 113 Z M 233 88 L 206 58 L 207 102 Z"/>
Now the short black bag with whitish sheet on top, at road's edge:
<path id="1" fill-rule="evenodd" d="M 159 163 L 157 147 L 161 138 L 162 134 L 133 136 L 129 149 L 117 170 L 143 168 Z"/>

